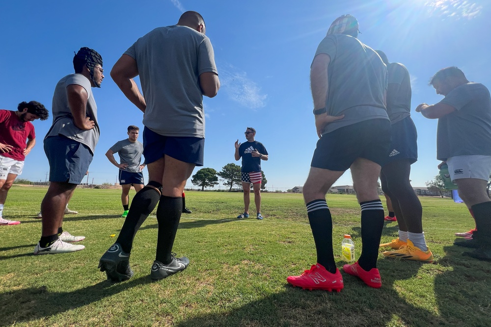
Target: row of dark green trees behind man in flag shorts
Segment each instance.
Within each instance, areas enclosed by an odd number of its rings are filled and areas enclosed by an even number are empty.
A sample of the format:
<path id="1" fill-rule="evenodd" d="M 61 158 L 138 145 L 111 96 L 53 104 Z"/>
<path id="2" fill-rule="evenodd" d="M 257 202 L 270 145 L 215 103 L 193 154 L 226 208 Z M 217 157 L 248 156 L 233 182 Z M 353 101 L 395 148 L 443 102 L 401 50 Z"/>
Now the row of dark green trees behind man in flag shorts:
<path id="1" fill-rule="evenodd" d="M 261 171 L 261 175 L 263 176 L 263 181 L 261 183 L 261 190 L 266 189 L 266 183 L 268 180 L 264 175 L 264 172 Z M 222 167 L 220 172 L 217 172 L 213 168 L 201 168 L 194 174 L 191 179 L 191 183 L 196 186 L 201 186 L 201 191 L 205 190 L 205 187 L 213 187 L 218 184 L 218 176 L 223 178 L 225 182 L 223 185 L 228 186 L 228 191 L 231 192 L 232 188 L 235 186 L 242 187 L 241 182 L 241 166 L 236 165 L 234 163 L 226 164 Z M 252 188 L 252 185 L 251 185 Z"/>

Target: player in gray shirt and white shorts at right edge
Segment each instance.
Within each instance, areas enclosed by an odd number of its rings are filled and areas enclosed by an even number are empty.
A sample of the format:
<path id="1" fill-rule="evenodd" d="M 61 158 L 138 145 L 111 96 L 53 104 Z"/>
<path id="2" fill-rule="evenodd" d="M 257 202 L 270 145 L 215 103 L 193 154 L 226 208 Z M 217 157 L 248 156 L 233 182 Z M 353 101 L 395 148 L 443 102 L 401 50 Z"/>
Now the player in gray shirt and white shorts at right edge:
<path id="1" fill-rule="evenodd" d="M 446 162 L 459 196 L 476 221 L 472 239 L 456 245 L 476 248 L 464 252 L 473 258 L 491 261 L 491 200 L 486 186 L 491 173 L 491 97 L 483 84 L 469 82 L 457 67 L 438 71 L 430 85 L 445 98 L 417 112 L 438 119 L 436 158 Z"/>

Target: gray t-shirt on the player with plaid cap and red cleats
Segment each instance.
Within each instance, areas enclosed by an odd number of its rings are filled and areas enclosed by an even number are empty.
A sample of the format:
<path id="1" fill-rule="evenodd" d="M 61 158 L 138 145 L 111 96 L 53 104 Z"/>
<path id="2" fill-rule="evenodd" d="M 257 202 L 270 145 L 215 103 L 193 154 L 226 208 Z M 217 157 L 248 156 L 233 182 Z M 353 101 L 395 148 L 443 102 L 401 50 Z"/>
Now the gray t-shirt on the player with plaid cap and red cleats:
<path id="1" fill-rule="evenodd" d="M 330 34 L 317 47 L 315 55 L 319 53 L 330 57 L 327 114 L 345 115 L 327 124 L 323 134 L 370 119 L 388 119 L 383 104 L 387 69 L 377 52 L 355 37 Z"/>

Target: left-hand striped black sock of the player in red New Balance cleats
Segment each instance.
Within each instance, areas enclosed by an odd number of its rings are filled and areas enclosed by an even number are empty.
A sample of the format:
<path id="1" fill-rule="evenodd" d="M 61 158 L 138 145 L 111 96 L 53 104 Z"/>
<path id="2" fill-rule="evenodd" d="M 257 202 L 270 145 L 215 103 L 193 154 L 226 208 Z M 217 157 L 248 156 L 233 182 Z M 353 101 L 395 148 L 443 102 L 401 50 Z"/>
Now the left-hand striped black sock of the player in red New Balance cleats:
<path id="1" fill-rule="evenodd" d="M 332 218 L 326 200 L 308 202 L 307 216 L 314 236 L 317 262 L 334 274 L 336 263 L 332 254 Z"/>

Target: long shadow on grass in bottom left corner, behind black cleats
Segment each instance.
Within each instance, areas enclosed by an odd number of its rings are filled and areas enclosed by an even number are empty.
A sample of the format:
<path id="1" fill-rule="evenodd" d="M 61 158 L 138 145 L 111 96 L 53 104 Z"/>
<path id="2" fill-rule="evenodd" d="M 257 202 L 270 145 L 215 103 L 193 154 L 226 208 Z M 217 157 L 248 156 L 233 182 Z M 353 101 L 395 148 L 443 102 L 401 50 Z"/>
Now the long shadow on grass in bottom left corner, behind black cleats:
<path id="1" fill-rule="evenodd" d="M 105 280 L 73 292 L 50 292 L 41 286 L 0 293 L 0 326 L 47 318 L 150 282 L 145 276 L 121 283 Z"/>

